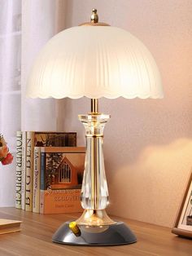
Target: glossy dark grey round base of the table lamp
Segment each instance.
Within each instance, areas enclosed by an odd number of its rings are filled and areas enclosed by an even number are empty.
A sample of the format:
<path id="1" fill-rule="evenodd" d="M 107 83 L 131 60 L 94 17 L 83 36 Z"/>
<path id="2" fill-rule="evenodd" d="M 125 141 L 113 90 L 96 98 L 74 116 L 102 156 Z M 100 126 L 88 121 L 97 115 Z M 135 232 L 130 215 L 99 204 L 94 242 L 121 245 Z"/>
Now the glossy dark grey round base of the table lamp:
<path id="1" fill-rule="evenodd" d="M 107 226 L 90 227 L 78 225 L 79 233 L 74 234 L 69 223 L 63 223 L 55 232 L 52 241 L 64 245 L 128 245 L 137 241 L 136 236 L 123 222 Z"/>

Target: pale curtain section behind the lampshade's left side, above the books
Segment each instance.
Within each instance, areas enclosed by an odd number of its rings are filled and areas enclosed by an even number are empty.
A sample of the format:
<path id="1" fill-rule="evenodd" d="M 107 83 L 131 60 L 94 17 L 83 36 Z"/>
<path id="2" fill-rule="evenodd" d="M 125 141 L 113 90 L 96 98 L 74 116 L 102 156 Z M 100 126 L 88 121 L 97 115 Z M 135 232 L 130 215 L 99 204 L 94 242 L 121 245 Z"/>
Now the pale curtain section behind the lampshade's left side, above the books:
<path id="1" fill-rule="evenodd" d="M 28 72 L 38 51 L 62 28 L 63 24 L 59 24 L 63 23 L 59 19 L 62 1 L 28 0 L 22 3 L 21 128 L 56 130 L 55 99 L 26 99 L 25 89 Z"/>

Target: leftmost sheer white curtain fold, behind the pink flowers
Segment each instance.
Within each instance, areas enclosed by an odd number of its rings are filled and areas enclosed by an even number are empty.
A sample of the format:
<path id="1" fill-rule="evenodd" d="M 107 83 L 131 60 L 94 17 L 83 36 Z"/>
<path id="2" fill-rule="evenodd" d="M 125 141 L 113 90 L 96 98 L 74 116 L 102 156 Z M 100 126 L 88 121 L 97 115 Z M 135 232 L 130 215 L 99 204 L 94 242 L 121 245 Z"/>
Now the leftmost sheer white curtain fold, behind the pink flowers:
<path id="1" fill-rule="evenodd" d="M 0 132 L 15 157 L 15 130 L 20 130 L 21 1 L 0 1 Z M 0 206 L 15 199 L 15 158 L 0 166 Z"/>

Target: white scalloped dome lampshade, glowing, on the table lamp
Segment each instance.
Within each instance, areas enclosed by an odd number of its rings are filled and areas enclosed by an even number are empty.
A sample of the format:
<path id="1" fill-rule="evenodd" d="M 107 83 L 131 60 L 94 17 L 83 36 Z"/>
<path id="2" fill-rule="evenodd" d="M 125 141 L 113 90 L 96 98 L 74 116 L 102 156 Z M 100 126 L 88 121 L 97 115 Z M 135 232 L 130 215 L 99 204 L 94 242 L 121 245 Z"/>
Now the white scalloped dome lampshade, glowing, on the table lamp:
<path id="1" fill-rule="evenodd" d="M 28 78 L 32 98 L 162 98 L 159 70 L 146 46 L 124 29 L 78 26 L 51 38 Z"/>

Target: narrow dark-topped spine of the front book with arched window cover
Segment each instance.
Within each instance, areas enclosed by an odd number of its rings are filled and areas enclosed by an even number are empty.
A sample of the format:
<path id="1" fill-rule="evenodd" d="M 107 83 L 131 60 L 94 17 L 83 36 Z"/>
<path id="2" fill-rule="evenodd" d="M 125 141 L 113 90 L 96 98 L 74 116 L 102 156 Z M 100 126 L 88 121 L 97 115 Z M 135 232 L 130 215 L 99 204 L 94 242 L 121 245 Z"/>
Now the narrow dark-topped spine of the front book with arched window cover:
<path id="1" fill-rule="evenodd" d="M 44 213 L 44 190 L 45 190 L 45 171 L 46 171 L 46 153 L 42 152 L 43 149 L 41 148 L 41 182 L 40 182 L 40 214 Z"/>

